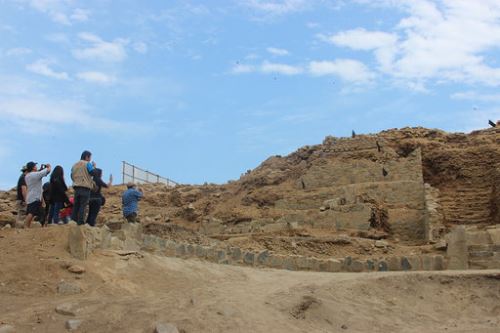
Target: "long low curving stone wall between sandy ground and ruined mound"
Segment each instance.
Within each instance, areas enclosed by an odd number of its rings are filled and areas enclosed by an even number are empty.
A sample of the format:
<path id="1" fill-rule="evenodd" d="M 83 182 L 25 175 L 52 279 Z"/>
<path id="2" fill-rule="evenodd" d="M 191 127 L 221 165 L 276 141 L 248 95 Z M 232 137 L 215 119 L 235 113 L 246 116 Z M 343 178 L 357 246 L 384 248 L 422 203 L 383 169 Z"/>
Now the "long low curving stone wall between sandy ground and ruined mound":
<path id="1" fill-rule="evenodd" d="M 175 242 L 143 234 L 138 224 L 124 224 L 112 231 L 107 226 L 70 227 L 68 249 L 77 259 L 85 260 L 95 249 L 145 250 L 169 257 L 198 258 L 226 265 L 268 267 L 290 271 L 371 272 L 371 271 L 433 271 L 447 268 L 442 255 L 392 256 L 377 259 L 319 259 L 298 255 L 280 255 L 270 251 L 245 251 L 238 247 L 221 248 Z"/>

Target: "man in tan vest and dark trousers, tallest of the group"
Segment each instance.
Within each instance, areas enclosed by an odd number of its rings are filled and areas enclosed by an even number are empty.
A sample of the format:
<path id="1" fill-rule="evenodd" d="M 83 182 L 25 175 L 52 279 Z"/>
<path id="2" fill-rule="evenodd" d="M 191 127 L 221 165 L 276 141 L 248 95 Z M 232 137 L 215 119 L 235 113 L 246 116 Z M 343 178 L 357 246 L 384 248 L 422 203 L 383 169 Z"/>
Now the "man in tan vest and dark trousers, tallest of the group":
<path id="1" fill-rule="evenodd" d="M 91 162 L 92 153 L 85 150 L 71 168 L 71 180 L 73 180 L 74 204 L 71 219 L 78 225 L 85 223 L 85 208 L 89 204 L 90 191 L 95 187 L 92 176 L 95 170 L 95 163 Z"/>

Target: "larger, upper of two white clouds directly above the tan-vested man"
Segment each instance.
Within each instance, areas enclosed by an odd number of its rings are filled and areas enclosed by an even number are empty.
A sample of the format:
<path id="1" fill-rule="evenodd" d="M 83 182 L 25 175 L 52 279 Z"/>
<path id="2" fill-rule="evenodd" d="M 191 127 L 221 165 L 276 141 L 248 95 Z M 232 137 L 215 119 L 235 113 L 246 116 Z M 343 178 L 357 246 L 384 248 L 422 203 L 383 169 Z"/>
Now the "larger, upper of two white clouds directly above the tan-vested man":
<path id="1" fill-rule="evenodd" d="M 124 39 L 106 42 L 99 36 L 85 32 L 80 33 L 78 36 L 81 40 L 88 42 L 90 46 L 73 50 L 73 56 L 77 59 L 120 62 L 127 57 L 125 45 L 128 42 Z"/>

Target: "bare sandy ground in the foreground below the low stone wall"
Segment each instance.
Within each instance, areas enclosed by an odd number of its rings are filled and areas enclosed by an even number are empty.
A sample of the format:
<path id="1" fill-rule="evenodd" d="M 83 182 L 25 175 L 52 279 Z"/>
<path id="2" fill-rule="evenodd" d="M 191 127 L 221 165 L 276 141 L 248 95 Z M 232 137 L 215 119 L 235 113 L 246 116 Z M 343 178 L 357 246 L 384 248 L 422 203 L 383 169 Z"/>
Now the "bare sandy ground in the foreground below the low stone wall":
<path id="1" fill-rule="evenodd" d="M 315 273 L 66 251 L 66 227 L 0 231 L 0 323 L 16 332 L 500 332 L 500 271 Z M 68 263 L 84 266 L 70 273 Z M 57 293 L 61 280 L 76 295 Z M 70 303 L 76 316 L 55 312 Z"/>

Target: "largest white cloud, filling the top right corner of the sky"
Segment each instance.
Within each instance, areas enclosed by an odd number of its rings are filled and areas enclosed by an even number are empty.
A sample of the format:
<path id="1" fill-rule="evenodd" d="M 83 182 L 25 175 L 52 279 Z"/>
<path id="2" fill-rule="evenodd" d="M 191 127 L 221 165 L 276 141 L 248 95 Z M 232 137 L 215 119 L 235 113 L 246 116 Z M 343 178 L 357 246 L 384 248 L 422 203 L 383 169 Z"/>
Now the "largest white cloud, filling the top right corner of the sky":
<path id="1" fill-rule="evenodd" d="M 390 32 L 363 28 L 324 37 L 337 46 L 373 52 L 386 75 L 422 84 L 429 80 L 500 85 L 500 68 L 486 53 L 500 44 L 500 2 L 378 1 L 406 11 Z"/>

